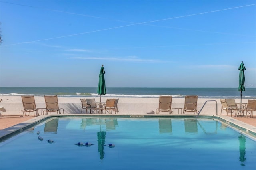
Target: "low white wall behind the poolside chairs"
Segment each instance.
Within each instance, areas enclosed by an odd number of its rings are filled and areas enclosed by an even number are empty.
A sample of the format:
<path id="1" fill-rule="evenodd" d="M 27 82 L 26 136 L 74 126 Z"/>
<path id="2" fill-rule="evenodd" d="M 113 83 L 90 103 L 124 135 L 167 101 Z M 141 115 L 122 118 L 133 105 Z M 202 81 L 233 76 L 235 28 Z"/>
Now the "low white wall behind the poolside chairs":
<path id="1" fill-rule="evenodd" d="M 8 96 L 2 95 L 3 99 L 1 106 L 6 109 L 6 112 L 1 112 L 2 115 L 19 115 L 20 110 L 23 110 L 21 96 Z M 84 97 L 83 97 L 84 98 Z M 89 98 L 89 97 L 87 97 Z M 109 97 L 108 97 L 109 98 Z M 102 97 L 102 101 L 106 101 L 107 97 Z M 96 102 L 100 101 L 100 97 L 95 97 Z M 172 98 L 172 108 L 184 108 L 184 98 Z M 202 106 L 207 100 L 217 101 L 218 115 L 221 111 L 220 99 L 198 98 L 197 109 L 200 111 Z M 43 96 L 35 96 L 36 107 L 45 108 L 45 101 Z M 119 115 L 152 115 L 156 114 L 158 108 L 159 98 L 145 98 L 145 97 L 121 97 L 118 101 L 118 114 Z M 209 101 L 202 109 L 200 115 L 216 115 L 216 102 Z M 248 99 L 243 99 L 242 102 L 247 103 Z M 236 99 L 240 102 L 240 99 Z M 82 103 L 79 97 L 58 97 L 59 107 L 64 109 L 64 114 L 79 114 L 81 113 Z M 178 114 L 177 109 L 173 109 L 174 115 Z M 85 110 L 83 110 L 85 113 Z M 41 109 L 39 109 L 41 115 Z M 55 113 L 52 113 L 55 114 Z M 114 112 L 112 112 L 114 114 Z M 117 113 L 116 113 L 117 114 Z M 160 112 L 160 114 L 168 114 Z M 193 114 L 193 113 L 186 113 Z M 225 111 L 222 111 L 225 115 Z"/>

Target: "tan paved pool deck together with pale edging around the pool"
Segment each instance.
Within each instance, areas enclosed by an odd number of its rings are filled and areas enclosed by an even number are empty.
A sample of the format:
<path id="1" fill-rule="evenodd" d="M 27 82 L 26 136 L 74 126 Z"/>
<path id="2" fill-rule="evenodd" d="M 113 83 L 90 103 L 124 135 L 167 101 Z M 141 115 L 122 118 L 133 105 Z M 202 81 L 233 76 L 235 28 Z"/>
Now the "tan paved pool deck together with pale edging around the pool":
<path id="1" fill-rule="evenodd" d="M 118 116 L 118 117 L 127 117 L 129 115 L 109 115 L 109 114 L 64 114 L 64 115 L 40 115 L 38 117 L 34 116 L 26 116 L 20 117 L 19 115 L 8 115 L 8 116 L 0 116 L 0 139 L 5 138 L 6 136 L 10 136 L 13 133 L 20 132 L 25 130 L 26 127 L 29 125 L 37 125 L 47 119 L 48 117 L 56 117 L 56 116 Z M 193 116 L 194 115 L 150 115 L 150 117 L 166 117 L 166 116 L 176 116 L 176 117 L 184 117 L 184 116 Z M 206 116 L 206 115 L 203 115 Z M 256 134 L 256 118 L 246 118 L 246 117 L 229 117 L 224 115 L 209 115 L 216 117 L 218 119 L 224 120 L 227 124 L 236 125 L 237 127 L 241 127 L 242 129 L 246 130 L 245 133 L 248 134 Z M 131 117 L 148 117 L 148 115 L 131 115 Z M 1 140 L 0 140 L 1 141 Z"/>

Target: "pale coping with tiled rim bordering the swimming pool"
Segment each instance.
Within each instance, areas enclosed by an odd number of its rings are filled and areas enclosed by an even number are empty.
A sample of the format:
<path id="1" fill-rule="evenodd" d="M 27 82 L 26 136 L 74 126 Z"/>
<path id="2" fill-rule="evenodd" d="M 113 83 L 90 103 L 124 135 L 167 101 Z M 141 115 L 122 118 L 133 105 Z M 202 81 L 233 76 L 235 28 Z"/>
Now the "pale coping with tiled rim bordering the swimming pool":
<path id="1" fill-rule="evenodd" d="M 63 115 L 40 115 L 38 117 L 34 117 L 32 119 L 29 119 L 27 121 L 24 121 L 22 123 L 19 123 L 17 125 L 14 125 L 12 127 L 5 128 L 3 130 L 0 130 L 0 142 L 8 139 L 11 136 L 14 136 L 15 134 L 18 134 L 19 132 L 22 132 L 34 125 L 38 125 L 45 121 L 46 119 L 49 119 L 51 117 L 130 117 L 130 118 L 150 118 L 150 117 L 173 117 L 173 118 L 186 118 L 186 117 L 192 117 L 195 118 L 195 115 L 109 115 L 109 114 L 63 114 Z M 234 119 L 229 116 L 224 115 L 199 115 L 198 118 L 208 118 L 208 119 L 216 119 L 222 123 L 226 123 L 226 125 L 230 125 L 231 127 L 235 128 L 239 132 L 248 135 L 252 139 L 256 140 L 256 127 L 249 125 L 247 123 L 244 123 L 242 121 L 239 121 L 237 119 Z"/>

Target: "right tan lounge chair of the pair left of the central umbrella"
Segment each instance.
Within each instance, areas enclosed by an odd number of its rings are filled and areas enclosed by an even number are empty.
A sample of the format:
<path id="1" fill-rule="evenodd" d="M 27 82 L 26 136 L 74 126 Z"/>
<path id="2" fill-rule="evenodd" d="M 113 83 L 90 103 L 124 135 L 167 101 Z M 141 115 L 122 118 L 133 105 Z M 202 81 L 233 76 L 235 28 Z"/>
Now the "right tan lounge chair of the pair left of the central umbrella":
<path id="1" fill-rule="evenodd" d="M 45 112 L 45 114 L 47 115 L 48 112 L 57 112 L 61 114 L 61 110 L 62 110 L 62 114 L 64 114 L 64 109 L 63 108 L 59 108 L 59 104 L 58 104 L 58 96 L 54 95 L 54 96 L 44 96 L 44 100 L 45 100 L 45 105 L 46 105 L 46 110 L 43 111 L 43 113 Z"/>

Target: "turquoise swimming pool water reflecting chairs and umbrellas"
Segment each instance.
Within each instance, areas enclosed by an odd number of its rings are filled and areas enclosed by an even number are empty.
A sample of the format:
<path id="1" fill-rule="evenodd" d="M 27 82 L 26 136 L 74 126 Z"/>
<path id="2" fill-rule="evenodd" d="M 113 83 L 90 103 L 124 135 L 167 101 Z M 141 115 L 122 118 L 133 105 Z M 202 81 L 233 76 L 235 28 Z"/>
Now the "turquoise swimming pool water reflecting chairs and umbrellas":
<path id="1" fill-rule="evenodd" d="M 0 153 L 10 170 L 256 169 L 256 141 L 214 119 L 56 117 L 1 142 Z"/>

